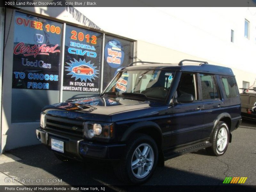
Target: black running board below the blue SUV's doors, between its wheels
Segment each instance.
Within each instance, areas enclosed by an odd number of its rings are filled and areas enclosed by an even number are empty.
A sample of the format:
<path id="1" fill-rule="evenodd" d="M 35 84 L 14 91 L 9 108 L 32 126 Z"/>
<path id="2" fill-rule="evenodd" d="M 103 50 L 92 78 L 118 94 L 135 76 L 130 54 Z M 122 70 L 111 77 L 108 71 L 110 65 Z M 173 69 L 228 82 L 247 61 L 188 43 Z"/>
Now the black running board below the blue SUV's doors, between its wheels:
<path id="1" fill-rule="evenodd" d="M 183 155 L 185 153 L 191 153 L 203 148 L 207 148 L 207 147 L 211 147 L 212 143 L 210 143 L 209 141 L 206 142 L 200 142 L 200 143 L 196 143 L 194 145 L 190 145 L 190 147 L 188 148 L 176 148 L 174 151 L 168 152 L 164 154 L 164 160 L 176 157 L 176 156 L 180 156 Z"/>

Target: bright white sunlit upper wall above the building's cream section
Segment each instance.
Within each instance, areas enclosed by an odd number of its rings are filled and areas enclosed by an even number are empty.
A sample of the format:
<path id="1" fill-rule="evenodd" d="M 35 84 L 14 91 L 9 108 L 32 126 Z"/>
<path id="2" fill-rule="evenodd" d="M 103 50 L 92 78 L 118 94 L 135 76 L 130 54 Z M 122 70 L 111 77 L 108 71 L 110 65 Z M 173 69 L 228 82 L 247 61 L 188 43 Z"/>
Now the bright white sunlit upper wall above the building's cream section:
<path id="1" fill-rule="evenodd" d="M 77 9 L 108 32 L 243 70 L 248 73 L 244 77 L 251 76 L 250 84 L 256 78 L 256 7 L 117 7 L 111 9 L 113 17 L 110 8 Z M 250 21 L 249 40 L 244 38 L 244 19 Z M 149 57 L 154 51 L 149 50 Z"/>

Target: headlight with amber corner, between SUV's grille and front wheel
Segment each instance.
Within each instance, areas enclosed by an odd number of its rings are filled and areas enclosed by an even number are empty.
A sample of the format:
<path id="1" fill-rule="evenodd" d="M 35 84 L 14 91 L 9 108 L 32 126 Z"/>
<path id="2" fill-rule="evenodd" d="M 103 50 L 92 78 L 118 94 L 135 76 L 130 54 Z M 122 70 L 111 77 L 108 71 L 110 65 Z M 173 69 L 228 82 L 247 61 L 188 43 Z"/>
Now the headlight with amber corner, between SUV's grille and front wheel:
<path id="1" fill-rule="evenodd" d="M 93 137 L 110 139 L 113 137 L 113 124 L 89 121 L 85 122 L 84 136 L 88 139 L 92 139 Z"/>

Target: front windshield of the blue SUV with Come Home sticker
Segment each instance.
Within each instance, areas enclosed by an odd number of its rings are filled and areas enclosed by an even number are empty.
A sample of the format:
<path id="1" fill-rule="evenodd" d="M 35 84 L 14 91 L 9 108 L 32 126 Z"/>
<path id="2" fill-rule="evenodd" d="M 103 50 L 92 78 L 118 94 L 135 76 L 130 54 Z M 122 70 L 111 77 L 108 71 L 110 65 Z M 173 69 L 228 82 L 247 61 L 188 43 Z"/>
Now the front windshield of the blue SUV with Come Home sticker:
<path id="1" fill-rule="evenodd" d="M 134 70 L 120 71 L 106 88 L 107 92 L 115 92 L 119 96 L 144 96 L 157 100 L 165 100 L 172 84 L 173 71 Z"/>

